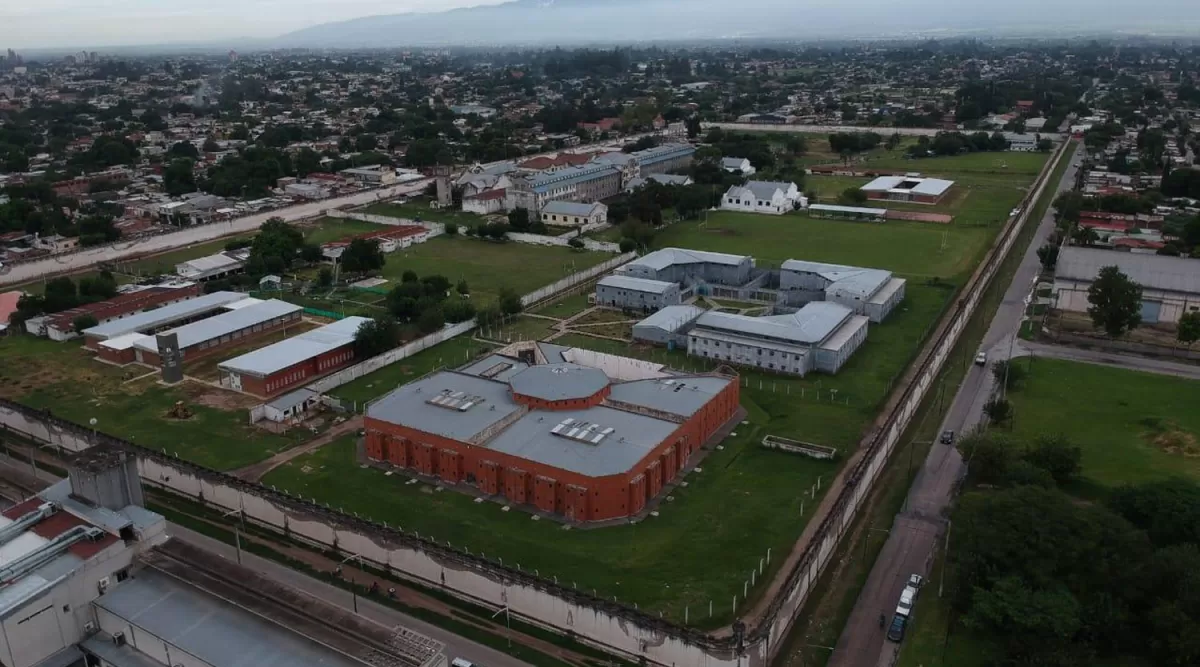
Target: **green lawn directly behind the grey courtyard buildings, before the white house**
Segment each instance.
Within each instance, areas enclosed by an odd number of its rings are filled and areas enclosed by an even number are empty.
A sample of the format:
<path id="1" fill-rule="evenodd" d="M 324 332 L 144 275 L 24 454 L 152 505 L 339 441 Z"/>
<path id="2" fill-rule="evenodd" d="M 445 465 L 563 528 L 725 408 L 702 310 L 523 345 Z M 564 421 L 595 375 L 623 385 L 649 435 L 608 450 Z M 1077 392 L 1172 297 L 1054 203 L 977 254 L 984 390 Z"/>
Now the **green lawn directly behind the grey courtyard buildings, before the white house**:
<path id="1" fill-rule="evenodd" d="M 877 224 L 721 211 L 710 214 L 707 223 L 672 224 L 654 242 L 658 247 L 749 254 L 760 266 L 809 259 L 889 269 L 908 277 L 958 278 L 974 269 L 998 230 L 998 224 Z"/>

